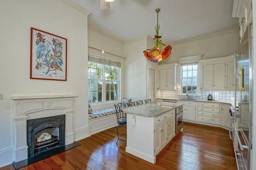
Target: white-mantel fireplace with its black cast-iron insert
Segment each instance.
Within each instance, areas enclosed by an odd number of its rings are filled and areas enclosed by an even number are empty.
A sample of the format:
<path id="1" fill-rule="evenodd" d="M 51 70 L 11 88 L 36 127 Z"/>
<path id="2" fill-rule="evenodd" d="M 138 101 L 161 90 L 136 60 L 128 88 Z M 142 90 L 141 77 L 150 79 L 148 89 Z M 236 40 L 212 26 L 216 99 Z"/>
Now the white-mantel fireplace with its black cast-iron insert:
<path id="1" fill-rule="evenodd" d="M 77 95 L 11 96 L 14 162 L 74 143 Z"/>

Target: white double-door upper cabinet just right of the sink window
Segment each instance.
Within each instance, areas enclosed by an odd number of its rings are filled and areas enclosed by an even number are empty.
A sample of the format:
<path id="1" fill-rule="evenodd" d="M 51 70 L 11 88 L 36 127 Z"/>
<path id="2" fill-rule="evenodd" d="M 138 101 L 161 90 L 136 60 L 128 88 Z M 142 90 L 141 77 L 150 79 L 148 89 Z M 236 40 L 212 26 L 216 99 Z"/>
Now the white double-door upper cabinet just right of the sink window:
<path id="1" fill-rule="evenodd" d="M 203 90 L 225 90 L 226 63 L 203 65 Z"/>

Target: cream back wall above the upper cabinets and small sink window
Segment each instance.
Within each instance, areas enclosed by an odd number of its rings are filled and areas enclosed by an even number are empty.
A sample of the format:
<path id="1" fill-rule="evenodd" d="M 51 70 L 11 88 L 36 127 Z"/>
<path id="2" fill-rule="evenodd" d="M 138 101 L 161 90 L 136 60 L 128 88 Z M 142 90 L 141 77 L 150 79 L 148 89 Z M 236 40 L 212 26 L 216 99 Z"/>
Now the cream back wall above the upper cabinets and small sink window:
<path id="1" fill-rule="evenodd" d="M 201 55 L 203 59 L 226 57 L 240 51 L 239 31 L 226 31 L 194 38 L 172 46 L 171 55 L 159 64 L 178 63 L 178 58 Z M 164 42 L 166 45 L 169 43 Z"/>

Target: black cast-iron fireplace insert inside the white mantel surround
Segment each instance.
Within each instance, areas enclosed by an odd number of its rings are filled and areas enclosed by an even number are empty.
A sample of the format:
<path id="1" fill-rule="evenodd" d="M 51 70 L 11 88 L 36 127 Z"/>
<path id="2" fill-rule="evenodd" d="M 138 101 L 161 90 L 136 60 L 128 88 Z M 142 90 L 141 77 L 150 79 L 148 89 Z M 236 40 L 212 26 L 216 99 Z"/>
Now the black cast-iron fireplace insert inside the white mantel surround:
<path id="1" fill-rule="evenodd" d="M 65 115 L 27 120 L 28 158 L 65 145 Z"/>

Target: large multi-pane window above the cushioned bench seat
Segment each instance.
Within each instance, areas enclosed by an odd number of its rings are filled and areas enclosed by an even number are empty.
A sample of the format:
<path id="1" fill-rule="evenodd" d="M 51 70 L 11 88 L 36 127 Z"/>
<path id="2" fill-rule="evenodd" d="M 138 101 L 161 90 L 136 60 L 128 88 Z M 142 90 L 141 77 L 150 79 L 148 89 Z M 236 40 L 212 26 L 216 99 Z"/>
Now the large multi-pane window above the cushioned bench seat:
<path id="1" fill-rule="evenodd" d="M 95 62 L 94 57 L 90 59 L 88 61 L 88 102 L 105 103 L 120 100 L 120 67 L 114 66 L 120 63 L 104 59 L 97 59 L 99 62 Z"/>

